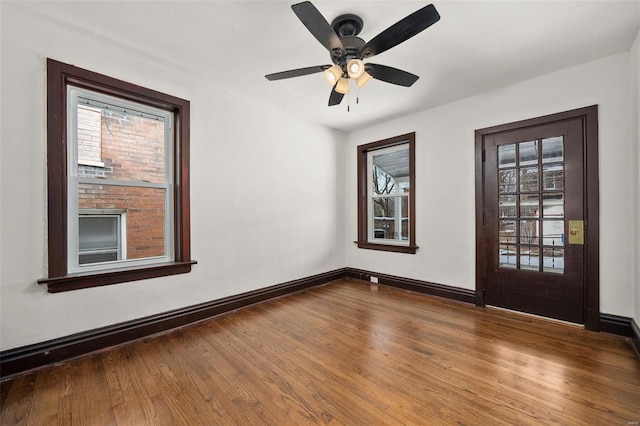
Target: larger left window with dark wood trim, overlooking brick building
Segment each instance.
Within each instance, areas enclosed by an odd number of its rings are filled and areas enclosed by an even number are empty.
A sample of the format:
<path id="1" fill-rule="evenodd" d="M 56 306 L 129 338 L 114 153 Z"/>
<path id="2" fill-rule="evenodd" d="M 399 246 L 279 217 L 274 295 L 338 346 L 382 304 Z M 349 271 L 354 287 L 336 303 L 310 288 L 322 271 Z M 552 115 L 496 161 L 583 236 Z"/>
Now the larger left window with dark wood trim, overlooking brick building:
<path id="1" fill-rule="evenodd" d="M 47 62 L 49 291 L 185 273 L 189 102 Z"/>

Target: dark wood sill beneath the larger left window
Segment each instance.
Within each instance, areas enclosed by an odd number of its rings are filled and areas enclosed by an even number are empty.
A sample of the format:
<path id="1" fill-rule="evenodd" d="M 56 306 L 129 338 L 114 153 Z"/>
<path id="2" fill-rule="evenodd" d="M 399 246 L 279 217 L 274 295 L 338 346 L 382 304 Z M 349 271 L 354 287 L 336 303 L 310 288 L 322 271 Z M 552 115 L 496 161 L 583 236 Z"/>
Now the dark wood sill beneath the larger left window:
<path id="1" fill-rule="evenodd" d="M 191 272 L 191 265 L 196 263 L 198 262 L 190 260 L 187 262 L 161 263 L 135 269 L 109 269 L 91 273 L 68 274 L 62 277 L 41 278 L 38 280 L 38 284 L 46 284 L 49 293 L 59 293 L 81 288 L 185 274 Z"/>

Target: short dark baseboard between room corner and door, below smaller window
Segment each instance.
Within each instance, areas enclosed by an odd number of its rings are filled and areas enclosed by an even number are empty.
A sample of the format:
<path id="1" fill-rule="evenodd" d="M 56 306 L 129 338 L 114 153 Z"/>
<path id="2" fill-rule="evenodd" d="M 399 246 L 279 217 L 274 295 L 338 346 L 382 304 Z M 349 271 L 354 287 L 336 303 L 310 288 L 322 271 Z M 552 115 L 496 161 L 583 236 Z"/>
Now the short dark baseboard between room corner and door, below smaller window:
<path id="1" fill-rule="evenodd" d="M 466 303 L 475 303 L 476 292 L 459 287 L 451 287 L 443 284 L 430 283 L 412 278 L 398 277 L 395 275 L 378 274 L 376 272 L 364 271 L 362 269 L 347 268 L 347 276 L 350 278 L 370 281 L 371 277 L 377 277 L 378 283 L 411 290 L 418 293 L 432 296 L 444 297 L 446 299 L 458 300 Z"/>

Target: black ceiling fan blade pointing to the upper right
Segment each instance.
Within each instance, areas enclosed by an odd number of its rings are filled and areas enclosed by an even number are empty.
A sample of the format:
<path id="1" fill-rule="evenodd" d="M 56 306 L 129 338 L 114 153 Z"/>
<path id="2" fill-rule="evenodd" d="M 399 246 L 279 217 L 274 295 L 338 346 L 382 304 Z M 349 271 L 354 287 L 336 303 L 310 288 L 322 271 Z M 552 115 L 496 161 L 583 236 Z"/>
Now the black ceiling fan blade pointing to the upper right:
<path id="1" fill-rule="evenodd" d="M 362 46 L 360 58 L 370 58 L 409 40 L 440 20 L 435 6 L 430 4 L 396 22 Z"/>

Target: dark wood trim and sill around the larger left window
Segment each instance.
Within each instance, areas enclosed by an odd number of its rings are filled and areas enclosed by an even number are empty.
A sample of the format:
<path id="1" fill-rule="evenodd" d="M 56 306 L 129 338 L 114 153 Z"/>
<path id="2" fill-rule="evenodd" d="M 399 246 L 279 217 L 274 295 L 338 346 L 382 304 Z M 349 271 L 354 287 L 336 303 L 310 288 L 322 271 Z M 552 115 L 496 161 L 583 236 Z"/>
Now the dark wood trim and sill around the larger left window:
<path id="1" fill-rule="evenodd" d="M 69 274 L 67 270 L 67 85 L 117 96 L 174 113 L 175 260 L 144 267 Z M 49 292 L 75 290 L 187 273 L 191 265 L 187 100 L 47 59 L 48 277 Z"/>

